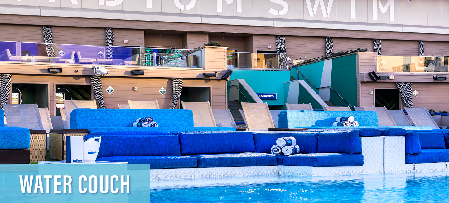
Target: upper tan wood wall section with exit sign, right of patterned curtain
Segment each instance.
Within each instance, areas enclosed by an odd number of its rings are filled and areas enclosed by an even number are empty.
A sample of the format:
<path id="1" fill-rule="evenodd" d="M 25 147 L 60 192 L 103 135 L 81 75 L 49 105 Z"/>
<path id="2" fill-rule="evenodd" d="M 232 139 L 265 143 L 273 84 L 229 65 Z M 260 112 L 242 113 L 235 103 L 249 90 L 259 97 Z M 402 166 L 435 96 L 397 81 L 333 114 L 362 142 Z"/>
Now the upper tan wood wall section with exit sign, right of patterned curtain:
<path id="1" fill-rule="evenodd" d="M 123 43 L 124 40 L 128 40 L 129 43 Z M 114 29 L 114 46 L 144 47 L 144 31 L 132 29 Z"/>

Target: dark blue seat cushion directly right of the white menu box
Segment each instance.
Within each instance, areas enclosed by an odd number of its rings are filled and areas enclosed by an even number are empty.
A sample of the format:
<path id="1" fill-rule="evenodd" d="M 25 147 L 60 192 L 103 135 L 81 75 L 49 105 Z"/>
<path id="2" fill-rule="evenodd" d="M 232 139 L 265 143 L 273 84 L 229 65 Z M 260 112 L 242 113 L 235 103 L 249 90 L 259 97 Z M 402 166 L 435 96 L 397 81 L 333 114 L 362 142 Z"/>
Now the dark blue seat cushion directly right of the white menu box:
<path id="1" fill-rule="evenodd" d="M 162 168 L 194 168 L 197 159 L 189 156 L 108 156 L 97 158 L 97 161 L 115 161 L 150 164 L 150 169 Z"/>

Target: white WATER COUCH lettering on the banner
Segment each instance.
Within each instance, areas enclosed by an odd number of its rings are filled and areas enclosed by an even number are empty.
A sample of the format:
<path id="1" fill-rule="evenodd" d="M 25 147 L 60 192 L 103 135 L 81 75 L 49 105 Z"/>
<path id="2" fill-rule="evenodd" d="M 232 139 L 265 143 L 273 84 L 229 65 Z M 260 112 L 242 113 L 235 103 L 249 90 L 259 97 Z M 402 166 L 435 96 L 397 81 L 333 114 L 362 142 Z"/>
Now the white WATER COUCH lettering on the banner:
<path id="1" fill-rule="evenodd" d="M 50 176 L 50 175 L 36 175 L 36 176 L 19 176 L 20 189 L 22 193 L 72 193 L 72 177 L 71 176 Z M 53 179 L 50 183 L 50 179 Z M 43 185 L 43 181 L 45 185 Z M 120 181 L 120 183 L 116 183 Z M 95 194 L 100 191 L 103 194 L 106 193 L 129 193 L 130 188 L 129 175 L 119 176 L 89 176 L 81 175 L 78 177 L 78 190 L 79 193 L 85 194 L 87 192 Z M 53 184 L 53 192 L 50 190 L 50 185 Z M 115 185 L 120 184 L 120 188 Z M 34 187 L 33 187 L 34 185 Z M 44 190 L 45 186 L 45 190 Z M 58 190 L 62 187 L 62 190 Z M 87 187 L 86 187 L 87 186 Z M 99 188 L 99 189 L 98 189 Z M 34 189 L 34 190 L 33 190 Z M 126 190 L 125 190 L 126 189 Z"/>

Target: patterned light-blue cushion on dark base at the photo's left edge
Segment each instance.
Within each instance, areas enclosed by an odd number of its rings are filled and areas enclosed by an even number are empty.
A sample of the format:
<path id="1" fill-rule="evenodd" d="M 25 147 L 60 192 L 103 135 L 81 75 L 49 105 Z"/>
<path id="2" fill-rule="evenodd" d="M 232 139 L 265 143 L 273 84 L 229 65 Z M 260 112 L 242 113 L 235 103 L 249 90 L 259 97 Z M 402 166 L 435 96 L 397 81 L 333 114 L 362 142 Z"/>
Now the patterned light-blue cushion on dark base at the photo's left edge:
<path id="1" fill-rule="evenodd" d="M 0 150 L 28 149 L 30 144 L 30 130 L 26 128 L 0 127 Z"/>

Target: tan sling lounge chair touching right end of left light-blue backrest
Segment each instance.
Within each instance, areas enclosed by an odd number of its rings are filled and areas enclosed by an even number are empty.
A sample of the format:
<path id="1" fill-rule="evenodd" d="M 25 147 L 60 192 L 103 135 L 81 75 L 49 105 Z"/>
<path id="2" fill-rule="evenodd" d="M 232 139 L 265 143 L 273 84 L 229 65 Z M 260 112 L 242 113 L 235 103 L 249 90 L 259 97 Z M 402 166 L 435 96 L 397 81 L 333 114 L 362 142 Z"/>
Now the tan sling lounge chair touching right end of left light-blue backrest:
<path id="1" fill-rule="evenodd" d="M 183 102 L 182 108 L 192 110 L 195 127 L 216 127 L 214 114 L 209 102 Z"/>

